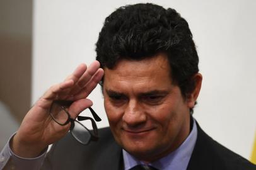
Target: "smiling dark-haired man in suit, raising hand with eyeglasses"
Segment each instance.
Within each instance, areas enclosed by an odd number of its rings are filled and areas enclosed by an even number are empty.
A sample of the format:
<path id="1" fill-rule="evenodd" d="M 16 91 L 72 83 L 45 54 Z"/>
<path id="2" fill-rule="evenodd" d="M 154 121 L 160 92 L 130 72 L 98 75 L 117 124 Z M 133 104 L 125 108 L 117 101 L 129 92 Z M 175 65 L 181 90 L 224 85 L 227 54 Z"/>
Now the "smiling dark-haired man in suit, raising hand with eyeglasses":
<path id="1" fill-rule="evenodd" d="M 117 9 L 105 20 L 96 54 L 98 62 L 79 65 L 28 111 L 2 152 L 11 152 L 6 168 L 256 169 L 207 136 L 192 117 L 202 76 L 189 25 L 174 9 Z M 92 105 L 86 97 L 98 82 L 110 128 L 84 146 L 72 137 L 74 119 Z M 70 115 L 60 123 L 52 106 L 63 100 L 72 103 L 59 104 Z"/>

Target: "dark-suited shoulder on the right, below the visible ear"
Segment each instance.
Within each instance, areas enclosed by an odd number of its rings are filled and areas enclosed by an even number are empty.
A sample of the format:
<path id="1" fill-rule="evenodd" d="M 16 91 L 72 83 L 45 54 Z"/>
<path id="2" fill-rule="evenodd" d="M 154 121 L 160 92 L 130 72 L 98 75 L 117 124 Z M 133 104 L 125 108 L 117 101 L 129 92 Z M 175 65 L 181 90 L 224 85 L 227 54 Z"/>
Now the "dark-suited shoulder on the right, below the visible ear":
<path id="1" fill-rule="evenodd" d="M 188 169 L 256 169 L 247 159 L 209 137 L 198 124 L 197 132 L 197 142 Z"/>

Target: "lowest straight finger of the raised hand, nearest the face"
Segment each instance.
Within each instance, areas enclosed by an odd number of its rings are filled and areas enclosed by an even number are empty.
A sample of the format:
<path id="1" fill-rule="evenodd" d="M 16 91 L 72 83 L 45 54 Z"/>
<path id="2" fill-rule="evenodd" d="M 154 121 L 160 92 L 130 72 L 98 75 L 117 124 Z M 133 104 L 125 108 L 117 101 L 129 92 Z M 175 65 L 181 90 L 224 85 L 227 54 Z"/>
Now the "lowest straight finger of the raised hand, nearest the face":
<path id="1" fill-rule="evenodd" d="M 91 80 L 84 86 L 84 88 L 75 96 L 73 96 L 74 100 L 81 99 L 81 98 L 86 98 L 93 89 L 97 86 L 98 82 L 101 81 L 103 77 L 104 71 L 103 69 L 98 69 L 96 72 L 95 76 L 91 78 Z"/>

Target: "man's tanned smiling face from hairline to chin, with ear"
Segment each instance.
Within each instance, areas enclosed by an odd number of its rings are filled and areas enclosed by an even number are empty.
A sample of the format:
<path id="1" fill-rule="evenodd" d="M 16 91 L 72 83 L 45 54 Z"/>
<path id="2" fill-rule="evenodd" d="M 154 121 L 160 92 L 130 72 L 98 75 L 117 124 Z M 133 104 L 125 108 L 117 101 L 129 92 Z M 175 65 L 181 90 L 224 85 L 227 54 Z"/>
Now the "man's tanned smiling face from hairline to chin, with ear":
<path id="1" fill-rule="evenodd" d="M 104 71 L 104 106 L 119 145 L 144 162 L 177 149 L 189 135 L 189 108 L 200 91 L 201 74 L 196 76 L 195 92 L 184 99 L 172 83 L 164 54 L 140 61 L 121 60 Z"/>

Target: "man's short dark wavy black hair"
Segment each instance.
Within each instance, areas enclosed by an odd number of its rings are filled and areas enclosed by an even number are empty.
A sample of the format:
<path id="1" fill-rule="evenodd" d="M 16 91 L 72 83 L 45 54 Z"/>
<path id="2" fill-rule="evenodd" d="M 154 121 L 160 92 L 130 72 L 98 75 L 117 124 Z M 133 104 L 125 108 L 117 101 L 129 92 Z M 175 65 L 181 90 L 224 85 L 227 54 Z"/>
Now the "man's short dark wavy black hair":
<path id="1" fill-rule="evenodd" d="M 172 81 L 186 98 L 195 88 L 199 58 L 189 25 L 175 9 L 150 3 L 122 6 L 105 19 L 96 42 L 102 68 L 159 53 L 168 56 Z"/>

